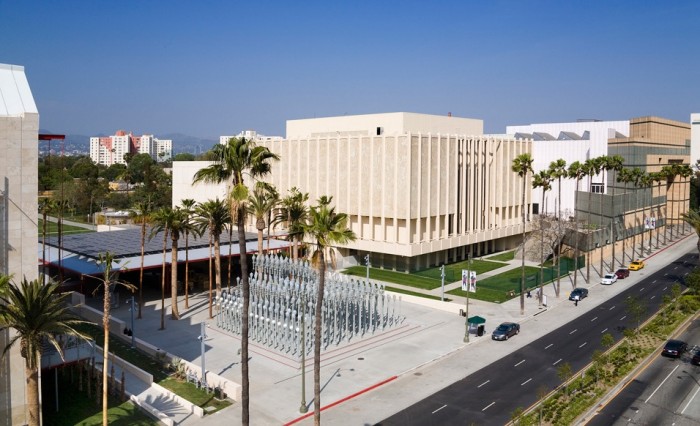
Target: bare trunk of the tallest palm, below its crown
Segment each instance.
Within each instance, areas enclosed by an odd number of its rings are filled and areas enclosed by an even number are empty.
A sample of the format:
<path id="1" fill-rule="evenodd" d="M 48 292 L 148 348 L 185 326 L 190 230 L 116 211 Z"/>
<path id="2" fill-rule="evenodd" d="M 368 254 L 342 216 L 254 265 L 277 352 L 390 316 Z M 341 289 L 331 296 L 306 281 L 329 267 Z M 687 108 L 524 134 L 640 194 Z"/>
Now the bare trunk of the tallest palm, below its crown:
<path id="1" fill-rule="evenodd" d="M 248 254 L 245 243 L 245 211 L 238 209 L 236 224 L 238 226 L 238 248 L 241 261 L 241 290 L 243 306 L 241 308 L 241 411 L 242 424 L 250 424 L 250 380 L 248 372 L 248 314 L 250 310 L 250 286 L 248 285 Z"/>

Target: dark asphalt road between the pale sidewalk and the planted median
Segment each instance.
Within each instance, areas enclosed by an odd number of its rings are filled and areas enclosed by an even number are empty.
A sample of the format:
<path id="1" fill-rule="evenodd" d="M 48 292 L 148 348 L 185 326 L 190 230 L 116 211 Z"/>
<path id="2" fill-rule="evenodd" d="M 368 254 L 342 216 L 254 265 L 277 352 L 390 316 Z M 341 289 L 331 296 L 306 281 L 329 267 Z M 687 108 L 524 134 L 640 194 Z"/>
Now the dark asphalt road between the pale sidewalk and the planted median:
<path id="1" fill-rule="evenodd" d="M 572 371 L 581 369 L 590 362 L 593 351 L 601 348 L 603 334 L 610 333 L 618 340 L 625 328 L 637 325 L 627 312 L 627 297 L 634 296 L 647 306 L 641 319 L 644 321 L 658 309 L 663 295 L 670 294 L 673 283 L 682 281 L 697 266 L 697 257 L 697 253 L 681 256 L 596 309 L 378 424 L 509 422 L 518 407 L 531 406 L 539 393 L 549 392 L 561 383 L 557 376 L 561 364 L 569 363 Z M 587 301 L 584 299 L 579 304 Z M 492 343 L 508 345 L 509 341 Z"/>

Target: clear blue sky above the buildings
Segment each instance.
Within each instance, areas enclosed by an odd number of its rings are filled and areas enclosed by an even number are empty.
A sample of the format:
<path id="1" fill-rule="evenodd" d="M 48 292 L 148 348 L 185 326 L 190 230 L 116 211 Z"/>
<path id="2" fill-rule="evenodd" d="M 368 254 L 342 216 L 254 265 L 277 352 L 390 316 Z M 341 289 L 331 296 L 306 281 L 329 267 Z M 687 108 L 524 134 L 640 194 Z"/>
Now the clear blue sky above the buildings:
<path id="1" fill-rule="evenodd" d="M 698 1 L 0 0 L 41 128 L 255 129 L 409 111 L 509 124 L 700 112 Z"/>

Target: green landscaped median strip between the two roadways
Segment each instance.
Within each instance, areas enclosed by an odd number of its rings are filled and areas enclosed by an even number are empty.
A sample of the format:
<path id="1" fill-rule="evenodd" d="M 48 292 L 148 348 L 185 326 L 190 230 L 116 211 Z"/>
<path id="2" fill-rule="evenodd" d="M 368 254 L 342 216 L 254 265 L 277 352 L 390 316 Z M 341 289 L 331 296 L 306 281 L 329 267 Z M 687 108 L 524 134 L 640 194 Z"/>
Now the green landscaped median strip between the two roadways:
<path id="1" fill-rule="evenodd" d="M 557 371 L 562 384 L 552 392 L 538 391 L 540 401 L 527 411 L 512 413 L 513 425 L 570 425 L 588 412 L 603 395 L 617 386 L 650 356 L 660 351 L 669 336 L 679 333 L 697 316 L 700 297 L 690 294 L 670 301 L 639 330 L 628 329 L 625 337 L 606 352 L 596 351 L 591 363 L 579 372 L 568 371 L 564 364 Z M 602 345 L 609 346 L 612 336 L 604 335 Z"/>

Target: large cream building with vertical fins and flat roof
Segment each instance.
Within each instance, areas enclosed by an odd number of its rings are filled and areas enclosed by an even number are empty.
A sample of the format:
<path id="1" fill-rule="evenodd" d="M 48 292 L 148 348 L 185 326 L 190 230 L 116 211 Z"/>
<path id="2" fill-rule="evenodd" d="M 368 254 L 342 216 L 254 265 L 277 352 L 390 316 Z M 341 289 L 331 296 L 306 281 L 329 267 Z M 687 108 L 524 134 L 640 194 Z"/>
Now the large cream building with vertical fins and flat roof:
<path id="1" fill-rule="evenodd" d="M 407 271 L 519 243 L 522 181 L 511 165 L 531 143 L 482 133 L 482 120 L 398 112 L 290 120 L 282 143 L 259 144 L 280 156 L 266 181 L 282 197 L 292 187 L 312 203 L 332 196 L 348 214 L 357 240 L 343 255 Z M 174 163 L 173 205 L 225 197 L 223 185 L 192 185 L 207 164 Z"/>

